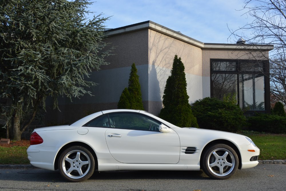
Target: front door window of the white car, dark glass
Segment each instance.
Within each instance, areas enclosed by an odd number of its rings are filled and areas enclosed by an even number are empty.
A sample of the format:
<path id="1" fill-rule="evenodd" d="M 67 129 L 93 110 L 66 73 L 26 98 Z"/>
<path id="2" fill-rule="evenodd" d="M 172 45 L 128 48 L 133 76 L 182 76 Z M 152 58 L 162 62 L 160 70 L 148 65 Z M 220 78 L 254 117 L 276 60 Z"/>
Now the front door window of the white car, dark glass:
<path id="1" fill-rule="evenodd" d="M 111 128 L 159 132 L 160 123 L 141 114 L 113 113 L 109 120 Z"/>

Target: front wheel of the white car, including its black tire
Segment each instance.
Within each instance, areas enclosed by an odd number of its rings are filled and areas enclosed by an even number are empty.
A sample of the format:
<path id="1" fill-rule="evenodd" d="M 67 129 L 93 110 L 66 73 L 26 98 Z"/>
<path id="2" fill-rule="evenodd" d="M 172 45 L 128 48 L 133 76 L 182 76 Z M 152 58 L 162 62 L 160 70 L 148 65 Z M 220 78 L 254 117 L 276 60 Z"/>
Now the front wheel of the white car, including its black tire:
<path id="1" fill-rule="evenodd" d="M 226 144 L 210 146 L 203 152 L 201 160 L 204 173 L 220 180 L 233 176 L 239 164 L 237 153 Z"/>

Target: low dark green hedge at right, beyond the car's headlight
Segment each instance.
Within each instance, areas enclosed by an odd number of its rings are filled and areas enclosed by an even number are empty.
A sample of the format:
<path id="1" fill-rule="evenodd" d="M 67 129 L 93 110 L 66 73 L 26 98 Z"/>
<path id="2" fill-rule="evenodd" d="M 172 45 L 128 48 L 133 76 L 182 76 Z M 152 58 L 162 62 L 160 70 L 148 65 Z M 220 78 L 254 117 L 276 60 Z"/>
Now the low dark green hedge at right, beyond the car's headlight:
<path id="1" fill-rule="evenodd" d="M 286 117 L 276 114 L 257 114 L 247 118 L 249 129 L 267 133 L 286 133 Z"/>

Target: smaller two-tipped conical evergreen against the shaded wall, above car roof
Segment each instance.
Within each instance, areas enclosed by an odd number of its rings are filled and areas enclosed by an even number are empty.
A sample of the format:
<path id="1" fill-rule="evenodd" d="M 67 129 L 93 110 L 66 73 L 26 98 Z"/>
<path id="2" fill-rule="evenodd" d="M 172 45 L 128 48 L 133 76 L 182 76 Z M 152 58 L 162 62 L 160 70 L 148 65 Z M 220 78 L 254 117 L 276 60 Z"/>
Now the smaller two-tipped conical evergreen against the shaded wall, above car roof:
<path id="1" fill-rule="evenodd" d="M 128 101 L 128 102 L 127 102 Z M 141 86 L 135 63 L 131 66 L 128 88 L 125 88 L 117 105 L 118 109 L 144 110 L 142 103 Z"/>

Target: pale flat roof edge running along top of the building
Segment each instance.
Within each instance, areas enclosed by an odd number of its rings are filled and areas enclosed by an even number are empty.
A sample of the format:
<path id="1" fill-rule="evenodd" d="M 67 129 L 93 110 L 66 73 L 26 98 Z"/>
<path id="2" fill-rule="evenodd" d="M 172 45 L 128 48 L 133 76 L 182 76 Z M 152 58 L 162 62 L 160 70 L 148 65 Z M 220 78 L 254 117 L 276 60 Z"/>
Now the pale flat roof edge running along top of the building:
<path id="1" fill-rule="evenodd" d="M 225 44 L 225 43 L 203 43 L 191 37 L 188 37 L 178 31 L 174 31 L 153 21 L 144 21 L 124 27 L 106 30 L 106 36 L 114 36 L 122 33 L 132 31 L 151 29 L 167 36 L 173 37 L 188 44 L 200 47 L 202 49 L 253 49 L 253 50 L 272 50 L 274 45 L 261 45 L 261 44 Z"/>

